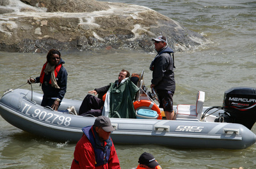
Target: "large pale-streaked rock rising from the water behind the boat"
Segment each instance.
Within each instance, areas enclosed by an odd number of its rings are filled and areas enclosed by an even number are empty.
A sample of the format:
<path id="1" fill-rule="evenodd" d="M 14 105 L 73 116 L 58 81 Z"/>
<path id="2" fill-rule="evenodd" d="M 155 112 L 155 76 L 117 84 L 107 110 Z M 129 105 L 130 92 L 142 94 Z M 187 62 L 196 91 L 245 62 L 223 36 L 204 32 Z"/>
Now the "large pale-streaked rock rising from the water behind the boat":
<path id="1" fill-rule="evenodd" d="M 175 51 L 189 50 L 207 41 L 144 6 L 93 0 L 22 2 L 0 0 L 1 51 L 131 48 L 152 52 L 151 39 L 161 34 Z M 17 6 L 13 8 L 12 3 Z"/>

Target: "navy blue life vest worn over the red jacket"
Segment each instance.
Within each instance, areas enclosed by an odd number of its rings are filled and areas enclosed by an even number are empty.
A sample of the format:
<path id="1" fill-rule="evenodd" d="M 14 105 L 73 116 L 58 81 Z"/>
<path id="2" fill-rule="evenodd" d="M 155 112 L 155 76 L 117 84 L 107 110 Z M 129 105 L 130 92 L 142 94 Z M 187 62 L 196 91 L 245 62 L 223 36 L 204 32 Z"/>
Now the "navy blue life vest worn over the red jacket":
<path id="1" fill-rule="evenodd" d="M 90 143 L 92 144 L 92 147 L 94 149 L 94 153 L 95 153 L 95 166 L 100 166 L 100 165 L 105 165 L 106 163 L 108 163 L 109 160 L 109 156 L 110 156 L 110 149 L 112 146 L 112 140 L 110 140 L 111 142 L 111 146 L 108 147 L 104 147 L 104 149 L 102 149 L 103 147 L 97 147 L 95 145 L 95 138 L 93 135 L 93 131 L 92 131 L 92 127 L 85 127 L 83 128 L 83 132 L 84 135 L 86 135 L 86 137 L 88 138 L 88 140 L 90 141 Z M 111 138 L 109 138 L 111 139 Z M 105 152 L 104 152 L 105 150 Z"/>

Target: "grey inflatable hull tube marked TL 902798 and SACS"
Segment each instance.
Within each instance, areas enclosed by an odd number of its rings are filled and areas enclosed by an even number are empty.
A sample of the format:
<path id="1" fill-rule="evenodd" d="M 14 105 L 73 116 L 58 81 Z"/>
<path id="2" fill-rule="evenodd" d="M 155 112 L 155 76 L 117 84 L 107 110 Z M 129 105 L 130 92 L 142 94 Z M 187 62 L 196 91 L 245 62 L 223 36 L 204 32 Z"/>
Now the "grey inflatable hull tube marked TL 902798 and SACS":
<path id="1" fill-rule="evenodd" d="M 61 142 L 77 142 L 84 126 L 92 126 L 95 117 L 63 114 L 41 107 L 42 94 L 15 89 L 0 100 L 3 119 L 29 133 Z M 74 105 L 79 109 L 82 101 L 63 99 L 59 110 Z M 78 110 L 77 110 L 78 111 Z M 193 119 L 176 121 L 157 119 L 110 118 L 115 131 L 114 143 L 158 144 L 182 148 L 244 149 L 253 145 L 256 135 L 241 124 L 202 122 Z"/>

